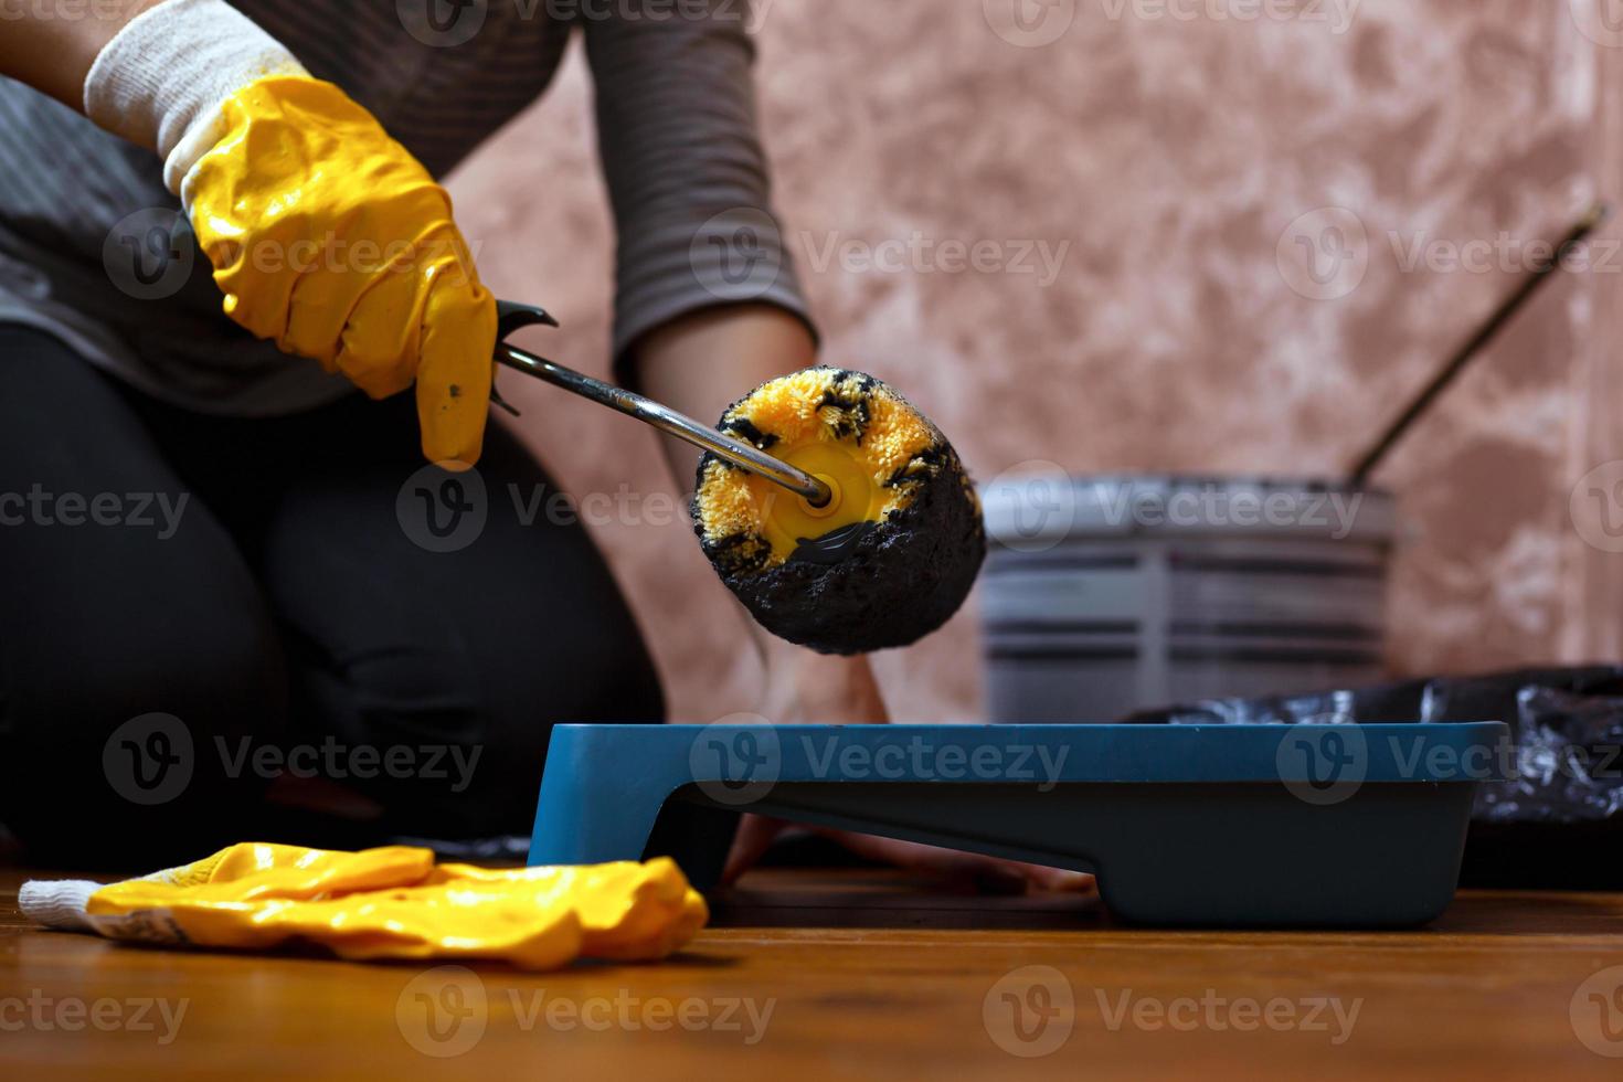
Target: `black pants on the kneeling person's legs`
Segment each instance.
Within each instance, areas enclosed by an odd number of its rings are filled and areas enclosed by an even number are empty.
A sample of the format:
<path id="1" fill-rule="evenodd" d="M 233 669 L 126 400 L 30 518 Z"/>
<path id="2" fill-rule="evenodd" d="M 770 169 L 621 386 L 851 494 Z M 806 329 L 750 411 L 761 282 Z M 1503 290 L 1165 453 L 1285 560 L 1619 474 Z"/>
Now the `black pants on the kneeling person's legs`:
<path id="1" fill-rule="evenodd" d="M 411 394 L 204 417 L 0 326 L 0 824 L 28 858 L 527 834 L 553 722 L 661 720 L 513 436 L 477 479 L 422 467 Z M 357 809 L 271 813 L 291 779 Z"/>

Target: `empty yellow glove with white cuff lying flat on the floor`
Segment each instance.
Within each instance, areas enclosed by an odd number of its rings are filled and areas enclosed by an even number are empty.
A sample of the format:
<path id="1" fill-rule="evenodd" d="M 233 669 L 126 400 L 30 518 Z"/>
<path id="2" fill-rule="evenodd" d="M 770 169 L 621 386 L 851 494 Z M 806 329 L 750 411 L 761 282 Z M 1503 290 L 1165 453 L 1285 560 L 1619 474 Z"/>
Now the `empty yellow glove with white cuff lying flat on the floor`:
<path id="1" fill-rule="evenodd" d="M 542 970 L 576 957 L 662 959 L 708 920 L 669 858 L 581 868 L 435 866 L 425 848 L 359 853 L 245 842 L 143 879 L 26 882 L 23 912 L 109 939 L 344 959 L 500 959 Z"/>

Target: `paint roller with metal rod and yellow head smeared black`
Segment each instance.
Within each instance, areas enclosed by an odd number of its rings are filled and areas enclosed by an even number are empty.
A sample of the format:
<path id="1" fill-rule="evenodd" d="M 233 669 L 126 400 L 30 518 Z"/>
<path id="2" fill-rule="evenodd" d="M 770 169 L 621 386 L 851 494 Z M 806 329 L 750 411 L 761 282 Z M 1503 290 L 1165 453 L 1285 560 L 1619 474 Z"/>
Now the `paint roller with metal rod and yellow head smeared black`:
<path id="1" fill-rule="evenodd" d="M 821 654 L 907 646 L 958 612 L 985 558 L 980 503 L 946 436 L 880 380 L 807 368 L 758 386 L 717 428 L 510 346 L 558 326 L 502 302 L 497 362 L 703 451 L 693 527 L 773 634 Z M 514 412 L 492 389 L 492 401 Z"/>

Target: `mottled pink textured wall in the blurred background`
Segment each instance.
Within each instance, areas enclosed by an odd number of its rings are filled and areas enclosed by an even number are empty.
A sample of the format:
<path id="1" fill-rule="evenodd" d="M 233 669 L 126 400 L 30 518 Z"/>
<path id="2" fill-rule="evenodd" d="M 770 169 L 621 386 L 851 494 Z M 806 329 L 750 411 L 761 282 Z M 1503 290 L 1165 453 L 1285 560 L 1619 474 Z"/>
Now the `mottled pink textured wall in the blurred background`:
<path id="1" fill-rule="evenodd" d="M 1058 21 L 1022 34 L 1013 3 Z M 904 389 L 982 479 L 1031 459 L 1332 472 L 1513 286 L 1529 243 L 1558 235 L 1595 177 L 1617 177 L 1617 141 L 1594 122 L 1623 41 L 1597 41 L 1604 24 L 1586 36 L 1586 6 L 768 3 L 763 127 L 824 357 Z M 583 68 L 573 55 L 453 190 L 498 294 L 563 316 L 536 342 L 601 373 L 610 234 Z M 1354 261 L 1315 282 L 1298 237 L 1321 271 L 1336 251 Z M 1451 245 L 1475 238 L 1496 243 L 1451 266 Z M 912 266 L 865 261 L 883 242 Z M 954 271 L 945 242 L 993 247 L 980 269 Z M 1599 581 L 1594 552 L 1568 493 L 1607 446 L 1604 423 L 1579 423 L 1615 360 L 1595 339 L 1623 260 L 1604 271 L 1548 289 L 1381 475 L 1409 521 L 1396 670 L 1573 657 L 1597 641 L 1578 603 Z M 505 383 L 575 492 L 672 492 L 635 422 Z M 626 506 L 597 537 L 674 714 L 750 709 L 740 616 L 687 524 L 669 503 Z M 971 607 L 881 655 L 896 715 L 977 717 L 975 652 Z"/>

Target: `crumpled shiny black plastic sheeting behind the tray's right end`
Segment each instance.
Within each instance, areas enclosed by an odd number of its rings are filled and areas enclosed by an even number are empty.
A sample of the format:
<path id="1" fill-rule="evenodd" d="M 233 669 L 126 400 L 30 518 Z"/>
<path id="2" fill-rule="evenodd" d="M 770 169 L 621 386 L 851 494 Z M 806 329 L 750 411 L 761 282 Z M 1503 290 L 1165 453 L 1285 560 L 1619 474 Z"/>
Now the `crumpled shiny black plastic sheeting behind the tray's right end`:
<path id="1" fill-rule="evenodd" d="M 1295 725 L 1505 722 L 1505 780 L 1482 782 L 1467 886 L 1623 887 L 1623 667 L 1521 668 L 1482 676 L 1258 699 L 1206 699 L 1130 722 Z"/>

